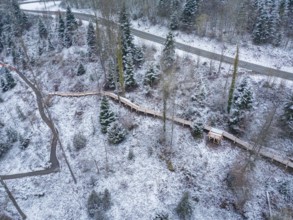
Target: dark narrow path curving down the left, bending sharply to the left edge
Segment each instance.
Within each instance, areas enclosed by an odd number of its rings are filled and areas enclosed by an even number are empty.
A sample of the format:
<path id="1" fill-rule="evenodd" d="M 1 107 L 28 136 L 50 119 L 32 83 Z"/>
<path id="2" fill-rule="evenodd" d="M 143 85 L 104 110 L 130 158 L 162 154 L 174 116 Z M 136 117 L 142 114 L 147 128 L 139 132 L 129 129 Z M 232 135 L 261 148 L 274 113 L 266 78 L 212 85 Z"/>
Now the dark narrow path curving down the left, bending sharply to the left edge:
<path id="1" fill-rule="evenodd" d="M 18 74 L 18 76 L 34 91 L 34 93 L 36 95 L 37 105 L 38 105 L 38 109 L 39 109 L 41 118 L 46 123 L 46 125 L 50 128 L 50 130 L 52 132 L 52 141 L 51 141 L 51 151 L 50 151 L 50 159 L 49 159 L 51 166 L 48 169 L 26 172 L 26 173 L 11 174 L 11 175 L 0 175 L 0 178 L 2 180 L 17 179 L 17 178 L 23 178 L 23 177 L 29 177 L 29 176 L 47 175 L 47 174 L 59 171 L 59 161 L 56 156 L 56 148 L 57 148 L 57 142 L 58 142 L 58 131 L 55 128 L 53 121 L 45 113 L 46 108 L 43 104 L 44 102 L 43 102 L 43 97 L 42 97 L 41 92 L 31 81 L 29 81 L 26 78 L 26 76 L 22 72 L 18 71 L 17 69 L 13 68 L 12 66 L 9 66 L 9 65 L 6 65 L 3 63 L 1 63 L 1 64 L 3 66 L 6 66 L 11 71 L 15 71 Z"/>

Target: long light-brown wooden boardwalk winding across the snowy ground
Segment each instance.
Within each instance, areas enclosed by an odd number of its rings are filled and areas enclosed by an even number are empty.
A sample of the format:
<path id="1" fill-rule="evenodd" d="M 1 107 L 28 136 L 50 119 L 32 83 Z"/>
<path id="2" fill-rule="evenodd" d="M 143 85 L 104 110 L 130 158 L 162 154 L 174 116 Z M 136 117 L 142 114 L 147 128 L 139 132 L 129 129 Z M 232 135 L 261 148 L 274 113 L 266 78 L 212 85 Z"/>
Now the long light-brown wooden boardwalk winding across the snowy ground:
<path id="1" fill-rule="evenodd" d="M 48 95 L 49 95 L 49 97 L 52 97 L 52 96 L 83 97 L 83 96 L 93 96 L 93 95 L 104 95 L 104 96 L 107 96 L 107 97 L 114 99 L 115 101 L 118 101 L 121 104 L 124 104 L 125 106 L 129 107 L 131 110 L 134 110 L 136 112 L 150 115 L 153 117 L 163 118 L 162 113 L 150 110 L 148 108 L 145 108 L 145 107 L 142 107 L 139 105 L 136 105 L 136 104 L 132 103 L 130 100 L 128 100 L 124 97 L 121 97 L 119 95 L 116 95 L 112 92 L 107 92 L 107 91 L 100 91 L 100 92 L 93 91 L 93 92 L 81 92 L 81 93 L 54 92 L 54 93 L 49 93 Z M 170 116 L 166 116 L 166 118 L 168 120 L 174 121 L 175 123 L 186 126 L 186 127 L 192 126 L 192 122 L 188 121 L 188 120 L 184 120 L 184 119 L 177 118 L 177 117 L 170 117 Z M 213 129 L 211 126 L 208 126 L 208 125 L 204 126 L 204 130 L 206 130 L 208 132 L 211 131 L 211 129 Z M 244 150 L 254 152 L 254 153 L 258 154 L 259 156 L 262 156 L 266 159 L 271 160 L 272 162 L 276 162 L 278 164 L 283 165 L 286 169 L 289 168 L 290 170 L 293 170 L 293 158 L 289 158 L 289 157 L 280 155 L 279 153 L 273 152 L 271 149 L 268 149 L 268 148 L 261 148 L 259 151 L 257 151 L 253 145 L 251 145 L 243 140 L 240 140 L 239 138 L 237 138 L 234 135 L 232 135 L 228 132 L 225 132 L 225 131 L 223 131 L 223 137 L 234 142 L 235 144 L 237 144 L 238 146 L 240 146 Z"/>

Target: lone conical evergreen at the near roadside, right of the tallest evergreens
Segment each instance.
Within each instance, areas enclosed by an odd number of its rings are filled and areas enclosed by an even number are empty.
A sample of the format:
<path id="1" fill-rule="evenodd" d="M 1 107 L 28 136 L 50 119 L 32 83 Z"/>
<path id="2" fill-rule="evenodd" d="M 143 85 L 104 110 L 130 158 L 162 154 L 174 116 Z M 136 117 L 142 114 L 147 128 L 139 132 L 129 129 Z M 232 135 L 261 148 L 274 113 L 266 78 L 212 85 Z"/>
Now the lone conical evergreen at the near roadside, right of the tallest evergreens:
<path id="1" fill-rule="evenodd" d="M 162 54 L 163 69 L 170 68 L 175 61 L 175 42 L 172 32 L 169 32 L 165 41 L 165 47 Z"/>

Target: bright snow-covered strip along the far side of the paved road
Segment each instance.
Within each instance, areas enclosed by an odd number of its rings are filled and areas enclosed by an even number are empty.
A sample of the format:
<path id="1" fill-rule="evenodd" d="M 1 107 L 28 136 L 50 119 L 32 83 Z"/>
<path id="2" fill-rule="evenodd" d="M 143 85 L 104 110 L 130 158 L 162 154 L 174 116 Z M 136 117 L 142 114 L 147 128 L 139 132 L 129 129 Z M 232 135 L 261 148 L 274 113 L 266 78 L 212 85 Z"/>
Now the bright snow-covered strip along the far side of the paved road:
<path id="1" fill-rule="evenodd" d="M 22 9 L 28 10 L 64 10 L 58 7 L 59 1 L 46 3 L 31 3 L 21 5 Z M 89 10 L 75 10 L 76 12 L 91 13 Z M 135 29 L 155 34 L 161 37 L 166 37 L 169 29 L 162 25 L 150 25 L 148 22 L 140 20 L 132 21 Z M 217 40 L 212 40 L 207 37 L 199 37 L 194 34 L 185 34 L 180 31 L 174 32 L 177 42 L 190 45 L 192 47 L 211 51 L 214 53 L 234 57 L 236 52 L 236 44 L 222 43 Z M 273 47 L 271 45 L 255 46 L 251 42 L 238 42 L 240 50 L 240 60 L 259 64 L 265 67 L 285 70 L 293 73 L 293 53 L 292 48 Z"/>

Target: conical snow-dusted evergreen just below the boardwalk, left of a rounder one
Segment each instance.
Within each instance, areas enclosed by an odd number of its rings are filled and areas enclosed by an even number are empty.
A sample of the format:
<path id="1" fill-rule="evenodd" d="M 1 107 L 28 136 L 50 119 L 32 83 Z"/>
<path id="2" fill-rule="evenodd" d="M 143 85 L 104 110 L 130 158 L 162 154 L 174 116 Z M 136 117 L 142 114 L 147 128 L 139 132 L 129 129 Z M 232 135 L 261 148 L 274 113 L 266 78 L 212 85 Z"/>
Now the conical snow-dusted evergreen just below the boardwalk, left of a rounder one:
<path id="1" fill-rule="evenodd" d="M 107 133 L 107 128 L 116 120 L 114 112 L 110 110 L 108 99 L 104 96 L 101 101 L 100 124 L 102 133 Z"/>

